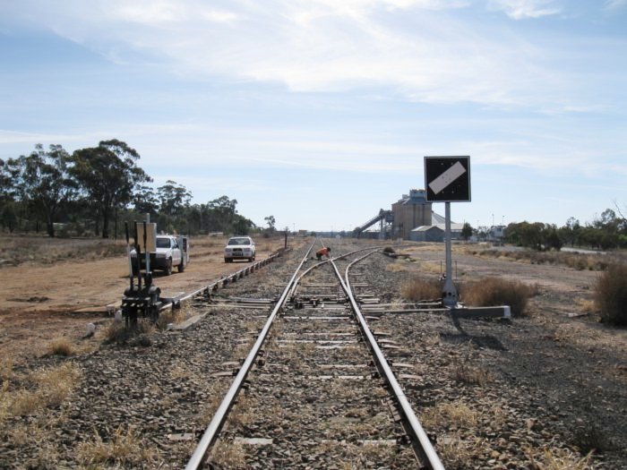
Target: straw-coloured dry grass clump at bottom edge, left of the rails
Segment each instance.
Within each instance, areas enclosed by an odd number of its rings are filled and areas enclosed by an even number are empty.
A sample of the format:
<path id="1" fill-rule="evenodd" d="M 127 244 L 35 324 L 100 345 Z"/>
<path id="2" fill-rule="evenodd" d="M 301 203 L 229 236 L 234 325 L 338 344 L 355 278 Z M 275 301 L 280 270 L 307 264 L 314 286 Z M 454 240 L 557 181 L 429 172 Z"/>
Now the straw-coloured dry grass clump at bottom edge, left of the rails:
<path id="1" fill-rule="evenodd" d="M 91 441 L 82 442 L 76 454 L 83 465 L 93 468 L 94 465 L 140 466 L 145 468 L 156 462 L 159 450 L 142 442 L 135 434 L 133 427 L 126 430 L 120 426 L 111 440 L 102 440 L 94 431 Z"/>

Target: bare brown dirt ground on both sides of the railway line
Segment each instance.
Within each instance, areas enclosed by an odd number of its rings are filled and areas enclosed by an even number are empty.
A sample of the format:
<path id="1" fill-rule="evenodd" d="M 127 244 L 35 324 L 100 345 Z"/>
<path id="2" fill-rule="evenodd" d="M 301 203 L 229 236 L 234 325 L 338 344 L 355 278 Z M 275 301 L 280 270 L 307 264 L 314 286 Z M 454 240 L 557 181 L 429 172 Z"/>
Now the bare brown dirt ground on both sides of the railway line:
<path id="1" fill-rule="evenodd" d="M 29 244 L 46 243 L 34 239 Z M 59 243 L 57 240 L 56 243 Z M 77 244 L 72 240 L 60 242 Z M 89 251 L 78 242 L 79 251 Z M 192 241 L 190 264 L 185 272 L 165 276 L 155 274 L 155 284 L 163 296 L 191 292 L 209 285 L 228 273 L 242 269 L 245 261 L 225 263 L 222 250 L 226 239 Z M 290 245 L 303 243 L 290 240 Z M 284 239 L 257 241 L 257 260 L 284 246 Z M 418 261 L 424 272 L 437 274 L 443 268 L 443 250 L 439 246 L 417 245 L 404 250 Z M 465 281 L 487 276 L 516 279 L 537 284 L 541 294 L 531 301 L 532 310 L 554 313 L 556 318 L 575 320 L 571 329 L 579 330 L 581 338 L 589 338 L 595 329 L 606 330 L 610 338 L 619 340 L 623 349 L 627 342 L 624 329 L 606 329 L 583 312 L 591 303 L 592 287 L 598 273 L 564 266 L 537 266 L 523 262 L 485 259 L 472 256 L 463 246 L 453 253 L 454 278 Z M 96 349 L 96 338 L 85 339 L 87 324 L 106 320 L 108 306 L 119 305 L 129 285 L 128 265 L 124 254 L 104 259 L 72 258 L 72 261 L 44 261 L 35 259 L 18 266 L 0 265 L 0 357 L 11 357 L 13 363 L 24 363 L 33 356 L 44 355 L 51 342 L 65 338 L 79 350 Z M 581 321 L 577 321 L 581 318 Z M 606 336 L 606 335 L 604 335 Z M 592 334 L 596 338 L 596 335 Z M 598 340 L 598 338 L 597 338 Z"/>

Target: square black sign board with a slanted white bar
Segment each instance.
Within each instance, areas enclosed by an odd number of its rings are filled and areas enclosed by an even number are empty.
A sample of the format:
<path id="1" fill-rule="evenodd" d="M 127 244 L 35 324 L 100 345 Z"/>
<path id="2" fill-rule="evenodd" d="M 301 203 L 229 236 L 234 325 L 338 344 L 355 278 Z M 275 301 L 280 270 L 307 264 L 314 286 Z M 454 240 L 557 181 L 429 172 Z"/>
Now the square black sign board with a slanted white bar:
<path id="1" fill-rule="evenodd" d="M 470 157 L 425 157 L 426 200 L 470 201 Z"/>

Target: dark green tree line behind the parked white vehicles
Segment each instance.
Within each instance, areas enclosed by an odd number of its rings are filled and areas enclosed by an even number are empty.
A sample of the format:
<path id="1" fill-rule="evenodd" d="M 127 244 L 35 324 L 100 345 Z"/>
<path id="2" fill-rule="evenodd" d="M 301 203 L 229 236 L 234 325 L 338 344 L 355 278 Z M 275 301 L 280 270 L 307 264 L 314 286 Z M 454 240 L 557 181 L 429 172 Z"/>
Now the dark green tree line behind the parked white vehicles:
<path id="1" fill-rule="evenodd" d="M 45 149 L 38 144 L 30 155 L 0 158 L 0 226 L 11 233 L 41 228 L 51 237 L 62 230 L 63 235 L 109 238 L 122 235 L 121 222 L 150 214 L 159 230 L 170 233 L 246 235 L 257 229 L 228 196 L 191 204 L 192 193 L 175 181 L 153 188 L 139 159 L 136 150 L 118 140 L 72 154 L 61 145 Z M 272 229 L 270 217 L 266 221 Z"/>

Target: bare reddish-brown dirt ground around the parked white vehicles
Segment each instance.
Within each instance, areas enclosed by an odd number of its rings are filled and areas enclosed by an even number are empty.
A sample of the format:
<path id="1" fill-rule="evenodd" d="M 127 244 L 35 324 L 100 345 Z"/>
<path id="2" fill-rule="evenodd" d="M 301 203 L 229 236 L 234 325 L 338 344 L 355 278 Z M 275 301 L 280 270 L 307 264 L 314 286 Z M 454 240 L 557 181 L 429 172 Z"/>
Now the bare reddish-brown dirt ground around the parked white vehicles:
<path id="1" fill-rule="evenodd" d="M 30 243 L 39 242 L 32 239 Z M 172 276 L 155 274 L 161 294 L 193 291 L 250 264 L 225 263 L 225 244 L 226 239 L 192 240 L 190 264 L 183 273 L 175 269 Z M 257 261 L 283 246 L 282 237 L 257 241 Z M 0 266 L 0 357 L 25 363 L 46 354 L 50 343 L 60 338 L 79 349 L 97 348 L 96 340 L 83 338 L 87 324 L 106 319 L 107 305 L 119 305 L 129 286 L 127 263 L 125 255 L 120 255 L 95 261 L 73 258 L 40 265 L 33 260 Z"/>

